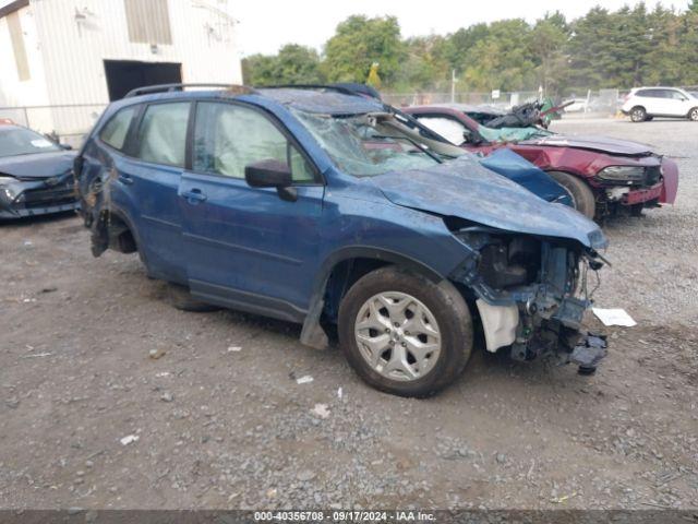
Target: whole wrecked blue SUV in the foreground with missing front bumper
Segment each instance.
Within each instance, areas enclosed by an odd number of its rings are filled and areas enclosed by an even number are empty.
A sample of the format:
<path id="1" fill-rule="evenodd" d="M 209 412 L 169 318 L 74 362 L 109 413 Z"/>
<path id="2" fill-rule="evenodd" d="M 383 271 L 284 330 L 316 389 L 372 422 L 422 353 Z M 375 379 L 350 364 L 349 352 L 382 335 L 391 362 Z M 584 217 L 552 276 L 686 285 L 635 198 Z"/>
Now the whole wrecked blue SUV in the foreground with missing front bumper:
<path id="1" fill-rule="evenodd" d="M 137 251 L 185 305 L 297 322 L 310 346 L 336 325 L 380 390 L 433 394 L 481 333 L 518 360 L 592 371 L 605 355 L 581 325 L 599 227 L 378 100 L 137 90 L 107 108 L 74 172 L 95 255 Z"/>

